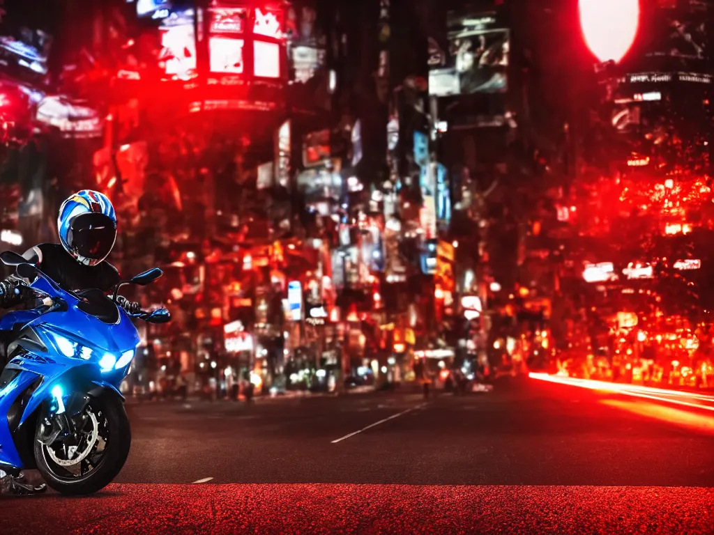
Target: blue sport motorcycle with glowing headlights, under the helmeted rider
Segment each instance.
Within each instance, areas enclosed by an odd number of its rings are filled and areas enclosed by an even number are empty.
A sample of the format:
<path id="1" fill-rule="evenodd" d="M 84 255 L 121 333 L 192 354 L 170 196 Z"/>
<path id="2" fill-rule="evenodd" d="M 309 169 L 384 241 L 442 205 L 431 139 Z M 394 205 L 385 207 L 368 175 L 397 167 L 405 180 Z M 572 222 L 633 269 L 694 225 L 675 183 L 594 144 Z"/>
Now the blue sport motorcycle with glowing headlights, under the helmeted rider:
<path id="1" fill-rule="evenodd" d="M 35 307 L 0 318 L 13 330 L 0 344 L 0 469 L 38 469 L 62 494 L 91 494 L 124 467 L 131 429 L 119 385 L 129 373 L 139 333 L 131 318 L 171 320 L 161 308 L 129 315 L 116 304 L 119 288 L 149 285 L 152 270 L 101 290 L 63 290 L 16 253 L 0 253 L 34 290 Z M 4 355 L 3 355 L 4 353 Z M 5 357 L 4 360 L 2 357 Z"/>

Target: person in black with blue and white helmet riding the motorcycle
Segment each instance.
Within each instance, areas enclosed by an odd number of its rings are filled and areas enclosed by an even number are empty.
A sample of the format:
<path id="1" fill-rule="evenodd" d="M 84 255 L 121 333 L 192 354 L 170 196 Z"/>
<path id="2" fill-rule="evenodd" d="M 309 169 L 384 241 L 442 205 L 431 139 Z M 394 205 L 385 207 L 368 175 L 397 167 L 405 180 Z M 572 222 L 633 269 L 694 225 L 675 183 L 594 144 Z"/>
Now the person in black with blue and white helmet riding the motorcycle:
<path id="1" fill-rule="evenodd" d="M 48 277 L 64 290 L 80 291 L 99 288 L 114 290 L 119 283 L 116 267 L 105 262 L 116 240 L 114 206 L 103 193 L 81 190 L 62 203 L 57 218 L 58 243 L 41 243 L 24 253 L 28 263 L 40 267 Z M 10 276 L 0 281 L 0 308 L 19 305 L 31 297 L 24 281 Z M 119 296 L 119 305 L 127 312 L 138 312 L 139 303 Z M 0 349 L 4 353 L 11 340 L 11 332 L 0 331 Z M 0 355 L 1 356 L 1 355 Z M 4 359 L 3 359 L 4 360 Z M 0 362 L 1 365 L 4 362 Z M 0 482 L 5 479 L 0 472 Z M 6 485 L 1 485 L 2 487 Z M 14 481 L 16 491 L 29 491 L 32 486 Z M 41 489 L 35 487 L 35 491 Z"/>

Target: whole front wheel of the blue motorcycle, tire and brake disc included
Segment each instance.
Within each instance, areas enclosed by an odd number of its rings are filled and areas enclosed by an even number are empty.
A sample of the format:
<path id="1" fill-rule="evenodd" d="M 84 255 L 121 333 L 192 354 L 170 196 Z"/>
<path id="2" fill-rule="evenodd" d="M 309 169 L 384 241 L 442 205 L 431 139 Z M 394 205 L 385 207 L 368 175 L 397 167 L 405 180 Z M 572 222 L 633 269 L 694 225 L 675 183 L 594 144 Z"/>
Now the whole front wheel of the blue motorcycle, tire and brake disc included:
<path id="1" fill-rule="evenodd" d="M 51 489 L 61 494 L 93 494 L 121 472 L 129 456 L 131 429 L 124 403 L 116 396 L 92 398 L 71 418 L 74 432 L 60 434 L 47 445 L 48 422 L 40 418 L 35 432 L 37 469 Z"/>

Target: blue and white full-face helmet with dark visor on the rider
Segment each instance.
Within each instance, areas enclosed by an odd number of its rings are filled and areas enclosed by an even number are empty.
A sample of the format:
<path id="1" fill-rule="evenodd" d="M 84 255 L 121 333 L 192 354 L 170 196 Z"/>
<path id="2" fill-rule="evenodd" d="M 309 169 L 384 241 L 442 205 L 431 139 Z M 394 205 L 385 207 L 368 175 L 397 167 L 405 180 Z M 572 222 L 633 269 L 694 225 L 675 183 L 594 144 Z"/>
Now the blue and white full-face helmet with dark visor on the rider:
<path id="1" fill-rule="evenodd" d="M 116 241 L 116 213 L 104 193 L 81 190 L 62 203 L 57 218 L 59 241 L 83 265 L 97 265 Z"/>

